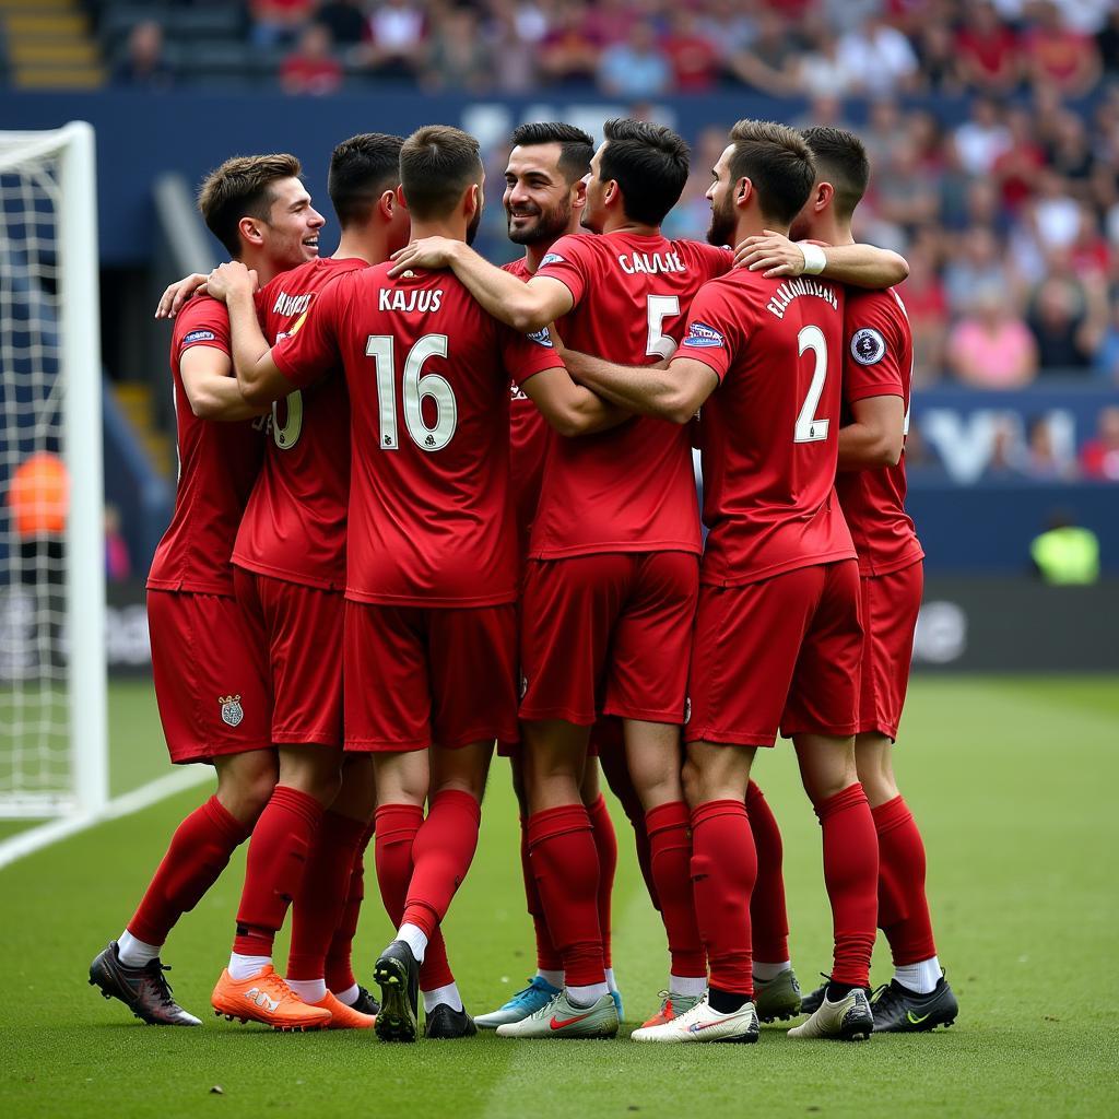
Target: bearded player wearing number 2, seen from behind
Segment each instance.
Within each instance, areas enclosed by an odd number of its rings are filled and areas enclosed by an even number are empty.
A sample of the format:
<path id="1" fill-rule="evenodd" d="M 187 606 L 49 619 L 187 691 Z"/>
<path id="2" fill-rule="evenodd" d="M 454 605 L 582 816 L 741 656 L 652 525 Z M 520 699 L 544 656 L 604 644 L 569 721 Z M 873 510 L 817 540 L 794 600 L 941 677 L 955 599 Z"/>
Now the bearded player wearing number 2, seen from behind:
<path id="1" fill-rule="evenodd" d="M 815 178 L 791 129 L 741 121 L 713 169 L 711 239 L 788 228 Z M 668 369 L 571 357 L 581 380 L 626 406 L 687 423 L 703 406 L 703 560 L 685 728 L 695 899 L 711 984 L 692 1009 L 634 1033 L 650 1042 L 754 1042 L 750 901 L 756 855 L 745 803 L 759 747 L 792 737 L 824 833 L 836 960 L 797 1037 L 868 1036 L 865 988 L 877 843 L 858 786 L 854 731 L 862 628 L 858 571 L 833 483 L 838 455 L 843 290 L 744 269 L 692 304 Z M 576 360 L 577 359 L 577 360 Z"/>

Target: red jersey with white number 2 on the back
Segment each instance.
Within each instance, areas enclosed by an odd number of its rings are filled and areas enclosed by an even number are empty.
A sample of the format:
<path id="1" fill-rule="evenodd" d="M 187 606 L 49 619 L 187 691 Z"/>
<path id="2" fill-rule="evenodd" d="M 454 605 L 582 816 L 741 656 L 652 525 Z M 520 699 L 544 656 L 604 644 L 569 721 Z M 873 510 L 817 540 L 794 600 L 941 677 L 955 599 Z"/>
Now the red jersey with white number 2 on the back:
<path id="1" fill-rule="evenodd" d="M 695 298 L 678 357 L 714 369 L 702 411 L 700 580 L 732 586 L 852 560 L 835 496 L 841 286 L 736 269 Z"/>

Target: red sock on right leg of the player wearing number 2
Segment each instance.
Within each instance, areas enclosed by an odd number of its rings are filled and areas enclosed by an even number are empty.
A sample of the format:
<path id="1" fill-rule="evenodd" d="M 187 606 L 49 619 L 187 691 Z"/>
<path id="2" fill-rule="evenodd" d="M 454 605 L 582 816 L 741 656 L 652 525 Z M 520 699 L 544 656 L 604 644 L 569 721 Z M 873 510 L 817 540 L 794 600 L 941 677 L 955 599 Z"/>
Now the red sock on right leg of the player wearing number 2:
<path id="1" fill-rule="evenodd" d="M 871 806 L 856 783 L 815 808 L 824 831 L 824 884 L 835 932 L 831 980 L 868 987 L 878 914 L 878 839 Z"/>

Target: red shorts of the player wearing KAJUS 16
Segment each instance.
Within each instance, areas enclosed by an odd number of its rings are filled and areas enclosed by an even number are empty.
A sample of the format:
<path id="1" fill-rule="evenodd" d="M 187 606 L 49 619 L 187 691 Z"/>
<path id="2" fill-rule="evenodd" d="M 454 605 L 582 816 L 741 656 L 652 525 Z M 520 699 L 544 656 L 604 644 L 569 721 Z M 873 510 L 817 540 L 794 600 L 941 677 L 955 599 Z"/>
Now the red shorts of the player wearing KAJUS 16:
<path id="1" fill-rule="evenodd" d="M 404 752 L 517 737 L 513 603 L 346 603 L 346 749 Z"/>

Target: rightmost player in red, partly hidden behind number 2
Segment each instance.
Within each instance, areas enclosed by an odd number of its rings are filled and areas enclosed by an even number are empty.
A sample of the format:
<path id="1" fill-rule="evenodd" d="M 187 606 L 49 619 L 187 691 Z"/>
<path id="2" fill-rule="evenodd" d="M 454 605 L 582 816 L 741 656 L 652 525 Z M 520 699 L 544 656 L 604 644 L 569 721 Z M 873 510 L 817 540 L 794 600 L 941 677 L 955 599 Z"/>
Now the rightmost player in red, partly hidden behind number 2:
<path id="1" fill-rule="evenodd" d="M 845 129 L 806 130 L 816 182 L 790 236 L 848 245 L 852 217 L 869 181 L 862 141 Z M 777 260 L 759 244 L 768 263 Z M 792 246 L 791 260 L 797 250 Z M 905 432 L 909 426 L 913 338 L 892 289 L 850 290 L 844 311 L 844 425 L 836 492 L 858 552 L 866 630 L 855 760 L 878 834 L 878 928 L 894 976 L 876 993 L 878 1033 L 918 1033 L 950 1025 L 959 1007 L 937 959 L 925 897 L 925 856 L 893 771 L 913 633 L 921 605 L 924 553 L 905 513 Z M 805 998 L 812 1013 L 824 988 Z"/>

